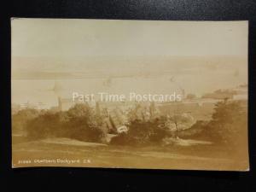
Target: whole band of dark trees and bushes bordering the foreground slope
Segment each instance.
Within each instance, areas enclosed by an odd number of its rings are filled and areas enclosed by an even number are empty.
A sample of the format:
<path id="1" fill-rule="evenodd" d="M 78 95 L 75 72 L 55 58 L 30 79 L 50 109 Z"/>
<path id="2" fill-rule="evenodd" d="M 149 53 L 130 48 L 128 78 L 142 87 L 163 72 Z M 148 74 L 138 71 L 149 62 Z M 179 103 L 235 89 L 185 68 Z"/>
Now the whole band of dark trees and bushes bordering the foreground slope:
<path id="1" fill-rule="evenodd" d="M 218 102 L 210 121 L 196 121 L 189 129 L 179 129 L 187 119 L 182 115 L 131 118 L 128 131 L 113 137 L 110 144 L 148 146 L 163 144 L 165 138 L 200 139 L 213 143 L 242 144 L 247 141 L 247 110 L 241 102 Z M 105 143 L 108 130 L 104 118 L 86 104 L 65 112 L 23 109 L 12 117 L 13 131 L 26 131 L 26 137 L 68 137 L 86 142 Z M 176 127 L 170 130 L 170 124 Z"/>

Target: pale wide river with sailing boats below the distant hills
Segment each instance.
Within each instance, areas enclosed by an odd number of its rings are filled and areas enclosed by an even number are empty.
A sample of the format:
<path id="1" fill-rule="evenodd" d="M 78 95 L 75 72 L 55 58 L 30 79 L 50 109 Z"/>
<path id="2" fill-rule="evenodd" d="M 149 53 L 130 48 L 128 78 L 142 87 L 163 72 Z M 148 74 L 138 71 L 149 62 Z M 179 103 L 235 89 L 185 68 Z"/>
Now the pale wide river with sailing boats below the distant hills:
<path id="1" fill-rule="evenodd" d="M 204 79 L 203 81 L 201 79 Z M 73 92 L 80 94 L 181 94 L 193 93 L 201 96 L 206 92 L 218 89 L 234 88 L 241 84 L 243 79 L 227 77 L 226 73 L 182 75 L 170 80 L 168 75 L 153 78 L 114 78 L 114 79 L 12 79 L 13 103 L 44 103 L 44 108 L 58 105 L 58 96 L 72 98 Z"/>

